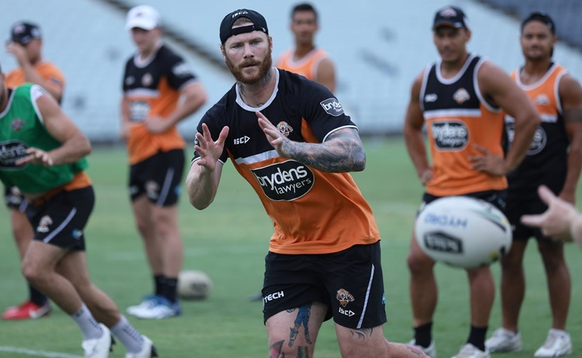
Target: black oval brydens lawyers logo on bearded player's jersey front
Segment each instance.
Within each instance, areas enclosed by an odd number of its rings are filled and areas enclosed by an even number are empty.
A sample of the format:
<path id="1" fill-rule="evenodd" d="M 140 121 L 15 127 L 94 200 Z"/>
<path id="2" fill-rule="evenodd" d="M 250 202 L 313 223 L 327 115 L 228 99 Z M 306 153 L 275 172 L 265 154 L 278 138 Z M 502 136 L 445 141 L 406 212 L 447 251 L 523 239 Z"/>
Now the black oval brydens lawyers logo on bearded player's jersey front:
<path id="1" fill-rule="evenodd" d="M 251 169 L 251 172 L 265 196 L 274 201 L 301 198 L 311 190 L 315 182 L 311 169 L 294 160 Z"/>

